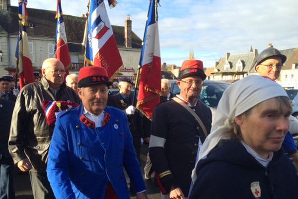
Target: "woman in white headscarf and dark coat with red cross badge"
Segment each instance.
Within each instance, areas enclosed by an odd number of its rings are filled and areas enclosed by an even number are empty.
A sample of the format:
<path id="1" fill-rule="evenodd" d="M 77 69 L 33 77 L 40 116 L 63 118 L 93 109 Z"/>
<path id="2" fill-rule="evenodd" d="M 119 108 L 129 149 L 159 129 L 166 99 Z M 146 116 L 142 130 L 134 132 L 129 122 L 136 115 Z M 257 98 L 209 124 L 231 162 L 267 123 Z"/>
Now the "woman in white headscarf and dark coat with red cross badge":
<path id="1" fill-rule="evenodd" d="M 281 149 L 291 112 L 270 79 L 251 75 L 226 89 L 189 199 L 298 199 L 296 170 Z"/>

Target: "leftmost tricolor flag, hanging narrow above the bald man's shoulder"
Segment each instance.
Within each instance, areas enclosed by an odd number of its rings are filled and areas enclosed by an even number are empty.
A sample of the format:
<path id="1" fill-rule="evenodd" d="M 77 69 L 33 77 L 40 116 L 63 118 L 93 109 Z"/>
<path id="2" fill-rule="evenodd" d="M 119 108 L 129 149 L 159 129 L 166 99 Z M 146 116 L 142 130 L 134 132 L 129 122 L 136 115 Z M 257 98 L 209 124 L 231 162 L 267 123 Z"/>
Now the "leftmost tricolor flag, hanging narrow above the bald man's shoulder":
<path id="1" fill-rule="evenodd" d="M 27 0 L 19 0 L 18 3 L 19 33 L 16 43 L 15 59 L 20 89 L 22 89 L 26 84 L 35 81 L 26 31 L 26 25 L 28 25 Z"/>

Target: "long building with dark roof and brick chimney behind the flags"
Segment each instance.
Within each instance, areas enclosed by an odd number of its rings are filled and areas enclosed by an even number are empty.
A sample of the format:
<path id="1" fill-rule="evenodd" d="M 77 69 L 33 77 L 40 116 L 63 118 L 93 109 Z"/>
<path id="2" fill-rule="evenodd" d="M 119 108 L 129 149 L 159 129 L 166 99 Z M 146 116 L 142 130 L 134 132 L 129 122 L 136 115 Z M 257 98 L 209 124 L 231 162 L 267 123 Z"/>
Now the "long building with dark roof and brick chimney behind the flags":
<path id="1" fill-rule="evenodd" d="M 0 76 L 15 75 L 14 59 L 18 36 L 18 7 L 11 6 L 10 0 L 0 0 Z M 45 59 L 54 56 L 56 36 L 56 11 L 28 8 L 28 43 L 30 58 L 34 71 L 40 71 Z M 72 60 L 70 73 L 78 73 L 84 63 L 84 47 L 82 46 L 86 17 L 64 15 L 66 35 Z M 135 78 L 142 49 L 142 39 L 132 31 L 129 15 L 124 26 L 112 25 L 114 36 L 122 57 L 124 67 L 112 77 L 123 75 Z M 1 53 L 2 52 L 2 53 Z"/>

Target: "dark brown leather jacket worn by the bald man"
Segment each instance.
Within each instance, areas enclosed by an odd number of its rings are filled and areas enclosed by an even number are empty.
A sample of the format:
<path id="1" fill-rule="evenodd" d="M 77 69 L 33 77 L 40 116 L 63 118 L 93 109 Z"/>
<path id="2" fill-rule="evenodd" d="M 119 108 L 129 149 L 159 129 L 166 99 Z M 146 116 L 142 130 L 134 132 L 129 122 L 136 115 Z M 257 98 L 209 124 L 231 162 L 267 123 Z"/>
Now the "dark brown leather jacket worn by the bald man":
<path id="1" fill-rule="evenodd" d="M 46 171 L 54 130 L 54 125 L 47 124 L 43 100 L 80 102 L 77 94 L 65 84 L 55 97 L 45 77 L 40 82 L 26 85 L 19 93 L 12 114 L 8 149 L 15 164 L 28 158 L 34 172 Z"/>

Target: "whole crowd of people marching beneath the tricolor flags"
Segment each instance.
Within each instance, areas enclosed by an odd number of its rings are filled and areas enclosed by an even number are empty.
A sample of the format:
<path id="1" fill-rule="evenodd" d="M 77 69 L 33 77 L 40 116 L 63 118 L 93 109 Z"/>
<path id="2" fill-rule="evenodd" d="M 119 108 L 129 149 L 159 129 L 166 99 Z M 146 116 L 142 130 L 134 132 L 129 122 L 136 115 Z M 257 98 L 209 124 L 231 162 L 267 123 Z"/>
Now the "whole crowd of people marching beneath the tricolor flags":
<path id="1" fill-rule="evenodd" d="M 14 199 L 14 164 L 29 172 L 34 199 L 128 199 L 131 193 L 148 199 L 144 179 L 153 174 L 161 199 L 298 199 L 292 106 L 275 82 L 286 59 L 273 47 L 262 51 L 254 65 L 259 75 L 226 89 L 214 121 L 198 98 L 206 79 L 200 60 L 182 63 L 180 94 L 173 96 L 169 81 L 161 80 L 152 121 L 133 104 L 133 82 L 112 83 L 103 67 L 65 77 L 63 64 L 49 58 L 42 77 L 20 92 L 4 76 L 0 198 Z M 111 86 L 119 93 L 108 95 Z M 143 142 L 149 143 L 144 176 Z"/>

